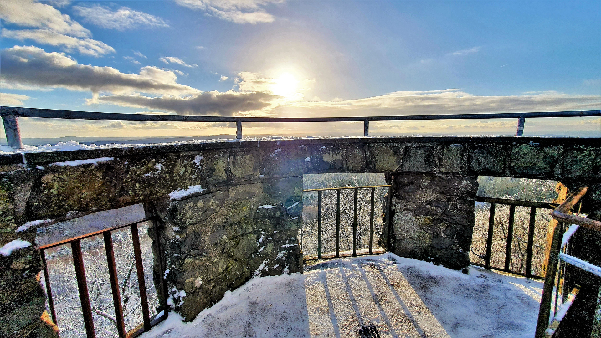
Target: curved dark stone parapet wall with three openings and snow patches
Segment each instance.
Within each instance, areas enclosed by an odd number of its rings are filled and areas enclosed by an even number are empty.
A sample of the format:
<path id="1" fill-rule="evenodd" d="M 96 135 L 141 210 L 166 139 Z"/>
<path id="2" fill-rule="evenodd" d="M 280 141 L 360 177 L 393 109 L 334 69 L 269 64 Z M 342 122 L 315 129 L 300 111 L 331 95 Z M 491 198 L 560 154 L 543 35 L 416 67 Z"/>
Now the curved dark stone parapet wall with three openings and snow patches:
<path id="1" fill-rule="evenodd" d="M 144 203 L 159 217 L 152 235 L 164 249 L 155 254 L 169 268 L 171 301 L 191 319 L 255 271 L 301 271 L 302 253 L 295 244 L 302 224 L 303 174 L 389 173 L 391 250 L 462 268 L 468 263 L 478 175 L 561 180 L 570 188 L 589 185 L 593 192 L 585 198 L 586 211 L 599 219 L 599 143 L 576 138 L 308 138 L 2 155 L 0 245 L 19 238 L 32 245 L 0 256 L 0 322 L 5 324 L 0 336 L 52 332 L 37 281 L 36 227 L 16 231 L 31 221 L 58 222 Z M 274 207 L 260 207 L 267 205 Z M 182 290 L 185 297 L 174 297 Z"/>

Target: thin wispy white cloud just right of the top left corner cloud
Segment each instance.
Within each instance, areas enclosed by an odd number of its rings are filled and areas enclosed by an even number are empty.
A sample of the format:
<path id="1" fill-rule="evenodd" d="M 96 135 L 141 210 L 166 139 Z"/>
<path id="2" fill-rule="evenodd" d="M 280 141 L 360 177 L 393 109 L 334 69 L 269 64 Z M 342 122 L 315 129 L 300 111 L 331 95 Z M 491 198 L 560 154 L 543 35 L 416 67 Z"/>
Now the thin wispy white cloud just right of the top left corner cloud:
<path id="1" fill-rule="evenodd" d="M 85 22 L 106 29 L 124 31 L 139 26 L 168 27 L 168 23 L 160 17 L 142 11 L 132 10 L 129 7 L 120 7 L 112 10 L 111 7 L 101 5 L 73 6 L 73 13 L 85 18 Z"/>

